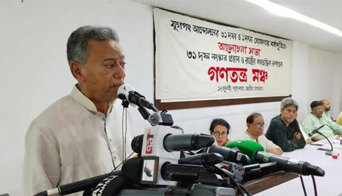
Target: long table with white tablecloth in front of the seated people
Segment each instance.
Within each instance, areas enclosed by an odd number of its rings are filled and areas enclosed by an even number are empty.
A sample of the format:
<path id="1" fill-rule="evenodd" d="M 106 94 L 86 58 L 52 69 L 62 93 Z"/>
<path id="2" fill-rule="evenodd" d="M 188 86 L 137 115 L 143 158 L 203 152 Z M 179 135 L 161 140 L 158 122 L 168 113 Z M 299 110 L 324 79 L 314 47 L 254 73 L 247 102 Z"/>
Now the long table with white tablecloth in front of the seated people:
<path id="1" fill-rule="evenodd" d="M 314 176 L 318 196 L 342 196 L 342 145 L 336 136 L 329 140 L 340 153 L 338 159 L 325 155 L 325 151 L 318 148 L 331 149 L 329 142 L 324 139 L 318 142 L 323 146 L 306 145 L 303 149 L 283 153 L 283 157 L 317 165 L 324 169 L 323 177 Z M 314 186 L 311 176 L 303 176 L 304 185 L 308 196 L 314 196 Z M 283 184 L 266 189 L 255 196 L 304 196 L 300 178 L 294 178 Z"/>

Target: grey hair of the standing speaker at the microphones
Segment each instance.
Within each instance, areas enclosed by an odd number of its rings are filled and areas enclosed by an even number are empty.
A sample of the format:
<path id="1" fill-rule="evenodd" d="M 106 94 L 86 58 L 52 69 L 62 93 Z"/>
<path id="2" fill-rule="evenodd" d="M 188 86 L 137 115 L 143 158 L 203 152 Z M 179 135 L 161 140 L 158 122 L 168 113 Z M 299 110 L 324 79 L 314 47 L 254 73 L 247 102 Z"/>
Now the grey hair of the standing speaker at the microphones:
<path id="1" fill-rule="evenodd" d="M 88 41 L 105 41 L 114 40 L 119 42 L 117 33 L 110 27 L 102 26 L 83 26 L 71 33 L 68 43 L 66 44 L 66 54 L 68 63 L 72 61 L 86 64 L 88 58 Z"/>

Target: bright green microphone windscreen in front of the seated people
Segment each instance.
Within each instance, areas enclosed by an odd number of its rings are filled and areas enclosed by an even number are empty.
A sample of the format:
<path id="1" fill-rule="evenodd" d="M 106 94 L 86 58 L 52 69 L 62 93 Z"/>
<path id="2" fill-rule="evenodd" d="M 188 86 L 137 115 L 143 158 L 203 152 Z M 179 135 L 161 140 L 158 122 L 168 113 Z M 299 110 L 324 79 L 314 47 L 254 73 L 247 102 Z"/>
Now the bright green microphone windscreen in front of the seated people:
<path id="1" fill-rule="evenodd" d="M 227 148 L 235 148 L 237 147 L 242 154 L 247 155 L 252 163 L 255 163 L 254 157 L 258 151 L 264 151 L 264 148 L 261 144 L 251 141 L 251 140 L 237 140 L 229 142 L 226 145 Z"/>

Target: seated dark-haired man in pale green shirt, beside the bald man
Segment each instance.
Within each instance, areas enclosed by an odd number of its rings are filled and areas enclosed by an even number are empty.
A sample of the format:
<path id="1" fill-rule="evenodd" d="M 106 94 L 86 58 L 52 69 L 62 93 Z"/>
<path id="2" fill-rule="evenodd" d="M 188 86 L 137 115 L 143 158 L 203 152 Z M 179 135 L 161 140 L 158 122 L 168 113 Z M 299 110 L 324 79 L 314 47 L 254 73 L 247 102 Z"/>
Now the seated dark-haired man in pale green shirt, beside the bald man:
<path id="1" fill-rule="evenodd" d="M 310 107 L 311 107 L 311 113 L 308 114 L 308 116 L 304 119 L 302 123 L 304 132 L 309 134 L 311 131 L 314 131 L 314 129 L 317 129 L 320 126 L 325 125 L 321 129 L 319 129 L 319 132 L 321 132 L 326 137 L 331 137 L 331 136 L 334 136 L 334 134 L 342 133 L 342 129 L 333 130 L 332 127 L 325 124 L 325 121 L 323 120 L 323 117 L 322 117 L 323 111 L 324 111 L 322 102 L 313 101 L 310 104 Z M 341 127 L 339 125 L 337 126 Z M 324 137 L 318 133 L 314 133 L 311 136 L 311 139 L 313 141 L 318 141 L 318 140 L 324 139 Z"/>

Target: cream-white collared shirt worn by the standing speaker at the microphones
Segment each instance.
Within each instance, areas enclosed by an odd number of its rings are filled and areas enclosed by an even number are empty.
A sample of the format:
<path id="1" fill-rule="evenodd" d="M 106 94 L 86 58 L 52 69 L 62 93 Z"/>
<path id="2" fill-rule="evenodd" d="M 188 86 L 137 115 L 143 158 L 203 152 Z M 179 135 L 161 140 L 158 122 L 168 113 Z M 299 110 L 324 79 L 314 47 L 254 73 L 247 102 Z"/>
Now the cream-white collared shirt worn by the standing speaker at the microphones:
<path id="1" fill-rule="evenodd" d="M 60 98 L 33 120 L 25 140 L 23 194 L 31 196 L 109 173 L 119 165 L 123 161 L 120 102 L 114 101 L 106 118 L 74 86 L 69 96 Z M 131 140 L 128 127 L 127 157 L 132 153 Z"/>

